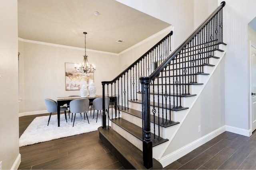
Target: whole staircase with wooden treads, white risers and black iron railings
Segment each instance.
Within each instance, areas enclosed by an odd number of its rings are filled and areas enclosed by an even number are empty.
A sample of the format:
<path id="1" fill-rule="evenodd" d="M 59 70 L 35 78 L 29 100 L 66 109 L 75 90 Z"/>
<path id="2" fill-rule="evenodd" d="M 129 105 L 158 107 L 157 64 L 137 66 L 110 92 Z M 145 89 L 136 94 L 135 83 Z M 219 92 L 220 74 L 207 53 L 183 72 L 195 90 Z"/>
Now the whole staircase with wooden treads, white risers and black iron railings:
<path id="1" fill-rule="evenodd" d="M 110 119 L 102 113 L 100 139 L 124 168 L 163 168 L 158 160 L 225 54 L 224 6 L 174 51 L 171 31 L 114 80 L 102 82 L 103 100 L 117 101 L 110 102 Z"/>

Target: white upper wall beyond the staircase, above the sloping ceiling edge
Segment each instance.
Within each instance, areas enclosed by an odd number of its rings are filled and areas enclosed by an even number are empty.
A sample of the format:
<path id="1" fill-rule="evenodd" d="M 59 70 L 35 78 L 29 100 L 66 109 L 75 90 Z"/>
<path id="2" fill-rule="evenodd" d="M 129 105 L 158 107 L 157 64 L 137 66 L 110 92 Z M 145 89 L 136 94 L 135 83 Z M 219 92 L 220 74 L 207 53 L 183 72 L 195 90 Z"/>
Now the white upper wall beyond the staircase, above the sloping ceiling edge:
<path id="1" fill-rule="evenodd" d="M 194 30 L 193 0 L 117 0 L 136 10 L 172 24 L 178 47 Z"/>

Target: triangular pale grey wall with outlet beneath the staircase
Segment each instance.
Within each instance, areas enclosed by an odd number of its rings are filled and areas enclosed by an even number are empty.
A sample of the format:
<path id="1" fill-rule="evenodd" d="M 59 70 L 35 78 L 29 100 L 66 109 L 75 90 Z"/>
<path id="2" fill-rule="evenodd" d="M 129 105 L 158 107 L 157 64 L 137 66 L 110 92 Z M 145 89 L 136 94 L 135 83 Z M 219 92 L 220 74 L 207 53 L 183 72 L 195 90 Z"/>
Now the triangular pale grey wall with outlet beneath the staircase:
<path id="1" fill-rule="evenodd" d="M 195 104 L 189 108 L 190 111 L 186 119 L 182 122 L 163 156 L 167 156 L 225 125 L 225 96 L 224 86 L 222 86 L 225 77 L 223 72 L 224 59 L 216 66 L 216 70 L 206 82 Z M 199 125 L 201 126 L 200 132 L 198 132 Z"/>

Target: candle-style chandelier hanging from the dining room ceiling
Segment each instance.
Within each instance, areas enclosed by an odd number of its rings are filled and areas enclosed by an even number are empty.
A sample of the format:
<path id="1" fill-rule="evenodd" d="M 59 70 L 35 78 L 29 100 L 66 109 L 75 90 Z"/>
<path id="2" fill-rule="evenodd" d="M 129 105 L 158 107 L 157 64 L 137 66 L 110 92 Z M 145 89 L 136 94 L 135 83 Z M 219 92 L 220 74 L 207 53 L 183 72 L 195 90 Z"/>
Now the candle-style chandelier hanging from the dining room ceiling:
<path id="1" fill-rule="evenodd" d="M 88 55 L 86 55 L 86 34 L 87 33 L 84 32 L 84 60 L 78 66 L 75 66 L 75 69 L 80 73 L 94 73 L 96 70 L 95 66 L 93 64 L 89 64 Z"/>

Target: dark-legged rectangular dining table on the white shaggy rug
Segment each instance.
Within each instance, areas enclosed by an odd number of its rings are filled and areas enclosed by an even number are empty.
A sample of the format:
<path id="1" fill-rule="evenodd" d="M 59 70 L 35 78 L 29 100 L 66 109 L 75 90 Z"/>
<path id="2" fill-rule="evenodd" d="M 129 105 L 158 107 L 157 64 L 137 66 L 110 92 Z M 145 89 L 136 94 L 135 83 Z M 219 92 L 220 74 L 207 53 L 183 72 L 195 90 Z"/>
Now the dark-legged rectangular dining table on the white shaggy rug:
<path id="1" fill-rule="evenodd" d="M 117 101 L 116 96 L 108 96 L 110 98 L 110 103 L 114 103 L 115 107 L 115 114 L 116 114 L 116 107 L 117 107 Z M 86 96 L 86 97 L 58 97 L 56 99 L 57 102 L 57 117 L 58 117 L 58 127 L 60 127 L 60 106 L 63 106 L 64 104 L 69 104 L 72 100 L 76 99 L 89 99 L 90 105 L 92 105 L 92 101 L 96 98 L 102 98 L 102 95 L 96 95 L 96 96 Z"/>

